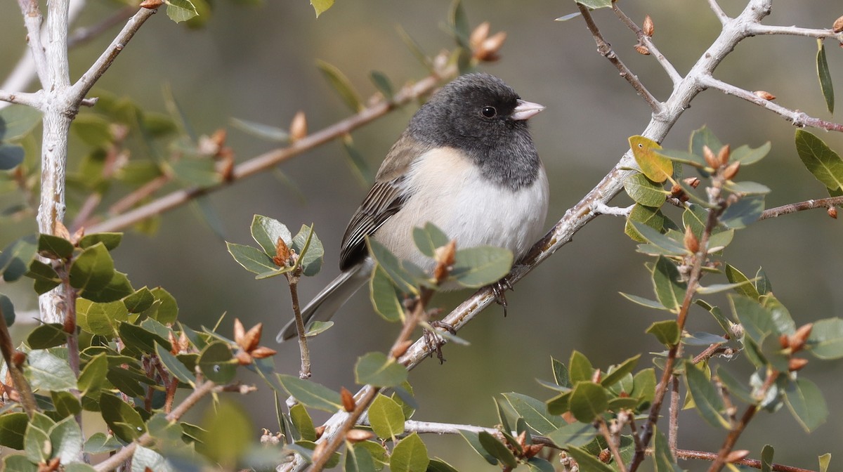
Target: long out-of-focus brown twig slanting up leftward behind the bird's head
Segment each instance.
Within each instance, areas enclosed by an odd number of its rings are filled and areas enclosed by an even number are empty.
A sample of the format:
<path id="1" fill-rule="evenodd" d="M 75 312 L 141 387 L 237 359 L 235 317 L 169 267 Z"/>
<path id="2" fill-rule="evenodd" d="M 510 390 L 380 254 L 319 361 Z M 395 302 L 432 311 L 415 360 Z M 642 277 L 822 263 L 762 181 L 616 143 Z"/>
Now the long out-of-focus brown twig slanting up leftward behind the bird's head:
<path id="1" fill-rule="evenodd" d="M 231 178 L 228 180 L 223 180 L 223 182 L 210 187 L 193 187 L 190 189 L 175 190 L 146 205 L 142 205 L 121 215 L 110 217 L 104 222 L 95 223 L 89 227 L 89 232 L 103 233 L 126 228 L 148 217 L 180 207 L 198 196 L 226 188 L 234 182 L 271 169 L 287 159 L 294 158 L 301 153 L 325 144 L 325 142 L 343 137 L 352 130 L 386 115 L 397 106 L 405 105 L 421 96 L 430 94 L 443 80 L 454 77 L 456 73 L 456 67 L 448 67 L 435 75 L 428 76 L 413 85 L 402 88 L 398 94 L 395 94 L 392 100 L 383 100 L 375 105 L 369 106 L 361 110 L 357 115 L 349 116 L 345 120 L 338 121 L 331 126 L 293 142 L 287 148 L 275 149 L 268 153 L 260 154 L 255 158 L 250 158 L 244 163 L 237 165 L 232 171 Z"/>

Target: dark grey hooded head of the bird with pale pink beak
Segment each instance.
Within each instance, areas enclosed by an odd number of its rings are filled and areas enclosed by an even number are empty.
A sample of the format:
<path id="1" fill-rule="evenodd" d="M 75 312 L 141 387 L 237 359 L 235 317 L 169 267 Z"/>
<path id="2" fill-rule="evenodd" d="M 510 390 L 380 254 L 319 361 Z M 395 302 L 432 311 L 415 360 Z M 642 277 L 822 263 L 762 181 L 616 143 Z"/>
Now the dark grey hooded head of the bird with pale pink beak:
<path id="1" fill-rule="evenodd" d="M 522 100 L 500 78 L 472 73 L 434 94 L 413 116 L 407 132 L 432 148 L 459 149 L 490 180 L 517 190 L 539 174 L 527 118 L 543 108 Z"/>

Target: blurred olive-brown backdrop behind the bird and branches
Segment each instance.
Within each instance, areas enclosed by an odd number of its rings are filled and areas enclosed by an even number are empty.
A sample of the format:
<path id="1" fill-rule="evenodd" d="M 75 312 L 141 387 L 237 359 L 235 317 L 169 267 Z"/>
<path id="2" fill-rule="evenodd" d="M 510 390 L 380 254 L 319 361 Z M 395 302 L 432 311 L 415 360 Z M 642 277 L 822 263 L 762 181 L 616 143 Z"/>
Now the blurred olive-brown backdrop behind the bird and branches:
<path id="1" fill-rule="evenodd" d="M 743 1 L 723 0 L 729 14 Z M 650 14 L 654 40 L 663 54 L 685 73 L 720 30 L 705 2 L 628 2 L 625 12 L 641 24 Z M 115 3 L 90 1 L 76 25 L 94 24 L 119 8 Z M 346 73 L 364 97 L 375 88 L 372 70 L 384 72 L 400 85 L 427 75 L 396 32 L 404 28 L 428 54 L 453 47 L 444 27 L 448 0 L 341 0 L 314 18 L 307 0 L 266 2 L 244 6 L 214 2 L 211 19 L 200 30 L 187 30 L 159 12 L 144 24 L 99 81 L 96 90 L 131 97 L 144 110 L 166 112 L 164 84 L 184 108 L 191 126 L 201 134 L 228 128 L 228 145 L 236 159 L 275 146 L 261 142 L 229 124 L 231 117 L 287 128 L 293 115 L 304 110 L 310 131 L 317 131 L 349 115 L 336 93 L 314 67 L 316 59 Z M 551 182 L 547 227 L 595 185 L 628 147 L 627 137 L 640 134 L 650 118 L 649 108 L 636 96 L 608 61 L 595 51 L 582 19 L 555 22 L 576 11 L 572 2 L 529 0 L 464 0 L 471 26 L 491 22 L 491 30 L 508 37 L 502 59 L 481 67 L 513 86 L 524 99 L 547 107 L 531 120 L 534 141 Z M 776 3 L 767 24 L 797 24 L 827 28 L 843 13 L 837 0 Z M 635 37 L 614 13 L 594 13 L 607 40 L 659 99 L 672 85 L 650 56 L 632 48 Z M 5 77 L 24 51 L 24 27 L 15 3 L 0 4 L 0 77 Z M 72 78 L 78 78 L 110 42 L 115 29 L 71 53 Z M 843 89 L 843 50 L 826 41 L 832 78 Z M 816 41 L 797 36 L 755 37 L 744 40 L 718 68 L 716 77 L 749 90 L 766 90 L 776 103 L 831 121 L 816 77 Z M 405 127 L 415 105 L 352 133 L 368 164 L 380 159 Z M 827 196 L 799 161 L 793 145 L 794 128 L 777 115 L 739 99 L 706 91 L 693 102 L 668 138 L 666 148 L 687 148 L 690 132 L 707 125 L 722 142 L 734 147 L 757 147 L 772 142 L 772 152 L 741 170 L 773 190 L 767 207 Z M 831 148 L 843 152 L 843 136 L 812 131 Z M 73 153 L 73 149 L 71 150 Z M 300 297 L 308 300 L 337 273 L 342 232 L 367 188 L 353 177 L 341 143 L 330 142 L 280 167 L 294 186 L 265 173 L 210 196 L 224 228 L 225 239 L 251 244 L 249 226 L 255 213 L 275 217 L 296 230 L 314 223 L 325 244 L 325 266 L 303 280 Z M 0 196 L 8 198 L 8 194 Z M 615 200 L 629 204 L 626 197 Z M 674 217 L 677 214 L 673 214 Z M 823 211 L 801 212 L 752 225 L 737 233 L 726 257 L 753 275 L 763 266 L 776 297 L 791 310 L 797 324 L 843 316 L 840 266 L 840 222 Z M 567 362 L 572 350 L 583 351 L 595 366 L 608 367 L 639 351 L 661 351 L 643 330 L 662 313 L 621 298 L 628 292 L 652 298 L 649 274 L 624 233 L 624 220 L 599 217 L 577 233 L 571 244 L 538 267 L 507 294 L 508 316 L 492 306 L 459 335 L 470 346 L 448 345 L 447 359 L 424 362 L 411 373 L 420 405 L 414 419 L 493 426 L 497 422 L 491 396 L 518 391 L 541 400 L 552 396 L 535 378 L 551 378 L 550 357 Z M 3 223 L 0 244 L 35 231 L 31 221 Z M 287 287 L 280 278 L 255 281 L 225 249 L 223 239 L 208 228 L 191 206 L 164 214 L 154 236 L 127 232 L 114 253 L 117 269 L 129 274 L 135 287 L 161 286 L 180 305 L 180 320 L 197 327 L 212 325 L 223 314 L 229 325 L 238 317 L 247 326 L 264 323 L 264 344 L 272 344 L 277 330 L 292 316 Z M 711 282 L 723 282 L 724 278 Z M 36 308 L 28 284 L 3 286 L 19 311 Z M 469 292 L 449 293 L 434 300 L 446 310 Z M 725 298 L 714 302 L 726 307 Z M 399 327 L 373 314 L 368 297 L 358 293 L 335 319 L 336 325 L 312 341 L 314 381 L 333 389 L 353 390 L 352 367 L 358 356 L 389 348 Z M 692 311 L 689 330 L 716 330 L 711 316 Z M 230 330 L 230 328 L 228 328 Z M 223 332 L 228 332 L 223 330 Z M 22 336 L 23 330 L 18 331 Z M 298 372 L 298 346 L 278 347 L 277 368 Z M 642 361 L 640 367 L 647 367 Z M 725 362 L 725 361 L 718 361 Z M 744 359 L 729 363 L 733 373 L 749 376 Z M 811 362 L 803 375 L 819 383 L 829 404 L 830 421 L 811 434 L 802 431 L 787 412 L 760 414 L 738 442 L 738 448 L 759 457 L 765 443 L 776 447 L 776 462 L 816 468 L 819 454 L 843 453 L 843 369 L 840 362 Z M 257 378 L 260 390 L 242 403 L 256 428 L 276 431 L 272 394 Z M 680 448 L 717 451 L 724 432 L 714 431 L 695 413 L 682 416 Z M 495 469 L 470 451 L 458 437 L 425 437 L 432 455 L 465 470 Z M 840 456 L 840 454 L 836 454 Z M 835 457 L 835 463 L 840 459 Z M 486 465 L 484 465 L 486 464 Z M 682 462 L 685 469 L 704 470 L 706 463 Z M 834 469 L 835 466 L 832 466 Z"/>

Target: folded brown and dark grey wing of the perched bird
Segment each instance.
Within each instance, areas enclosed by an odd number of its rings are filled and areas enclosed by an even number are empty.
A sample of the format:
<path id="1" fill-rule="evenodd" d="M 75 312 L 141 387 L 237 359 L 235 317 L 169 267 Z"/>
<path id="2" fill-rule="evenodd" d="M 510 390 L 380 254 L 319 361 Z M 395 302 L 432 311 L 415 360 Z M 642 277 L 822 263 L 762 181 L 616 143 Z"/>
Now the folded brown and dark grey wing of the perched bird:
<path id="1" fill-rule="evenodd" d="M 427 152 L 423 145 L 407 134 L 395 142 L 380 164 L 372 190 L 357 208 L 342 237 L 340 270 L 346 271 L 366 257 L 366 237 L 374 234 L 389 217 L 395 215 L 409 195 L 401 189 L 411 162 Z"/>

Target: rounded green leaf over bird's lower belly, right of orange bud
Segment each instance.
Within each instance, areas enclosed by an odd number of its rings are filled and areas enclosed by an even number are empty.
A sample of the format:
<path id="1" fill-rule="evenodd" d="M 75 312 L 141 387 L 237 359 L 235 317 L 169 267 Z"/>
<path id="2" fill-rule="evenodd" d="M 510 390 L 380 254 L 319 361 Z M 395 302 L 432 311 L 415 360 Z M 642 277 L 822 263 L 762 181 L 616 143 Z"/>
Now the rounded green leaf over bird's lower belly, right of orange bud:
<path id="1" fill-rule="evenodd" d="M 513 267 L 509 249 L 478 246 L 458 249 L 451 278 L 464 287 L 480 288 L 501 280 Z"/>

